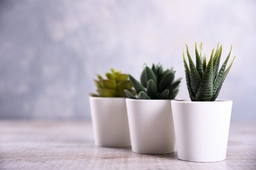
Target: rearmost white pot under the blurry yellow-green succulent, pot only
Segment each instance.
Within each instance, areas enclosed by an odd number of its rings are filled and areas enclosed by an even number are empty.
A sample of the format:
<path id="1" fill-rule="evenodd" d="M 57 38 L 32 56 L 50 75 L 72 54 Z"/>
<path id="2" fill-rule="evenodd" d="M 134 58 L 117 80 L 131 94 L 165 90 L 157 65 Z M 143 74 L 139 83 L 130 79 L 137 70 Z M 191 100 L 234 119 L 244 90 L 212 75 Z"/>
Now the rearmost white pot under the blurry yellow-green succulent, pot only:
<path id="1" fill-rule="evenodd" d="M 90 97 L 92 127 L 96 146 L 130 146 L 125 99 L 121 97 Z"/>

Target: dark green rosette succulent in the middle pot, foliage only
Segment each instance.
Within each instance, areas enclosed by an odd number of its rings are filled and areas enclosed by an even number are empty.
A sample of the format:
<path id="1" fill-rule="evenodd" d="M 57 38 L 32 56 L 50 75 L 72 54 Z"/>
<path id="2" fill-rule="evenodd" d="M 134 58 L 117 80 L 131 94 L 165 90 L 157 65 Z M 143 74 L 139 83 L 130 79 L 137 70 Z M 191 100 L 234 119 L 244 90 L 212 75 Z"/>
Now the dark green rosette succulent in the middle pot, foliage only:
<path id="1" fill-rule="evenodd" d="M 131 99 L 174 99 L 179 92 L 179 84 L 181 82 L 181 78 L 173 81 L 174 74 L 173 67 L 164 70 L 162 64 L 157 64 L 156 66 L 153 64 L 152 68 L 144 64 L 140 77 L 141 83 L 129 75 L 138 97 L 128 90 L 124 91 L 127 97 Z"/>

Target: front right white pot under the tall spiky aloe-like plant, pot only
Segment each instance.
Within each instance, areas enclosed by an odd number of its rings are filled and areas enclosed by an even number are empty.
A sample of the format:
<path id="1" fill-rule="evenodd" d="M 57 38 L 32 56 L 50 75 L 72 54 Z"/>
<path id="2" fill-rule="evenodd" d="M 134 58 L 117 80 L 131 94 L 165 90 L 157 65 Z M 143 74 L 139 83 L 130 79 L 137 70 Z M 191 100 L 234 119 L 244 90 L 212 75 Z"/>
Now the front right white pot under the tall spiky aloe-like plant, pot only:
<path id="1" fill-rule="evenodd" d="M 231 100 L 171 101 L 178 158 L 193 162 L 226 159 Z"/>

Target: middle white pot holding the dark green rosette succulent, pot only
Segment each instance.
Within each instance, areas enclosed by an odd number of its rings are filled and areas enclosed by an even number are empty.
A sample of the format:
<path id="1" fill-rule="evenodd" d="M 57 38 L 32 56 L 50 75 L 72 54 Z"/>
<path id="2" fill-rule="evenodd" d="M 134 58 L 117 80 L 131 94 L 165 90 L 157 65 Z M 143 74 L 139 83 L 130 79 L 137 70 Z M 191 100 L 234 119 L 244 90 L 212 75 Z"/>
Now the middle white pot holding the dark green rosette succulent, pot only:
<path id="1" fill-rule="evenodd" d="M 175 151 L 170 101 L 126 99 L 133 152 L 166 154 Z"/>

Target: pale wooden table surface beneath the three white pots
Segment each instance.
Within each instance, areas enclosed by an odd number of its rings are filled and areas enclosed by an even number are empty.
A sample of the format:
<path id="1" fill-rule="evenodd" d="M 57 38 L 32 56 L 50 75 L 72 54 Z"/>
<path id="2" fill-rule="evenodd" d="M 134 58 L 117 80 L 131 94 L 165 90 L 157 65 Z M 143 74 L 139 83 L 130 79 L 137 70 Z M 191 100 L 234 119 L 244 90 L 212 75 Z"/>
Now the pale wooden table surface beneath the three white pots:
<path id="1" fill-rule="evenodd" d="M 256 170 L 256 121 L 231 122 L 225 161 L 196 163 L 96 147 L 90 121 L 0 120 L 0 170 L 109 169 Z"/>

